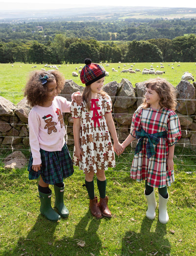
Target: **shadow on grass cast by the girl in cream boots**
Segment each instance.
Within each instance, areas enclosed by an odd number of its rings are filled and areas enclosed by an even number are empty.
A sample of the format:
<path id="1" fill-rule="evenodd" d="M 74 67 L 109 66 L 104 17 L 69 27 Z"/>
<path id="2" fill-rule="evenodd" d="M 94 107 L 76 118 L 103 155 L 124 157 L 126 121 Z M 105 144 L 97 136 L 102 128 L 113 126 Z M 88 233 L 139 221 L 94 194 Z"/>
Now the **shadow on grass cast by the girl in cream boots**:
<path id="1" fill-rule="evenodd" d="M 140 233 L 127 231 L 122 241 L 121 256 L 170 255 L 171 245 L 168 239 L 166 225 L 157 220 L 155 231 L 150 231 L 153 220 L 143 219 Z"/>

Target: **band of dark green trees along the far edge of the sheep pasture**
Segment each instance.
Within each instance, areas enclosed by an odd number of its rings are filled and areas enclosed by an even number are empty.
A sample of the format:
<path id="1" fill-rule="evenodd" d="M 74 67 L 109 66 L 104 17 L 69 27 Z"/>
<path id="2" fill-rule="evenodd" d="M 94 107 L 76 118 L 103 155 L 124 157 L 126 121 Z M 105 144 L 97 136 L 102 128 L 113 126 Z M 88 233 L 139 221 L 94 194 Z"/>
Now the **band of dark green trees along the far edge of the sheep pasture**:
<path id="1" fill-rule="evenodd" d="M 174 39 L 133 40 L 115 43 L 95 39 L 67 38 L 56 34 L 53 41 L 0 42 L 1 63 L 83 63 L 89 57 L 94 62 L 195 62 L 196 35 Z"/>

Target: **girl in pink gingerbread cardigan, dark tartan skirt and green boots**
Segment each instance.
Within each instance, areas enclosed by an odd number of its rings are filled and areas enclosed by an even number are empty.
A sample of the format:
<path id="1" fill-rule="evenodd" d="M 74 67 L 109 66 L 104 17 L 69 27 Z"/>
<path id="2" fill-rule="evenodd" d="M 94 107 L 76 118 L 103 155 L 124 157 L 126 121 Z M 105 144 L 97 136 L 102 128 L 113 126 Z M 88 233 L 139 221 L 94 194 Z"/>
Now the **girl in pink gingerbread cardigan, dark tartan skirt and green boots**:
<path id="1" fill-rule="evenodd" d="M 63 112 L 70 112 L 71 102 L 57 96 L 65 79 L 57 70 L 32 72 L 25 87 L 25 96 L 32 106 L 28 116 L 30 159 L 29 179 L 39 179 L 40 212 L 51 221 L 68 217 L 69 210 L 63 203 L 63 178 L 73 174 L 73 163 L 65 143 Z M 73 96 L 81 102 L 81 96 Z M 51 207 L 51 190 L 54 185 L 58 213 Z"/>

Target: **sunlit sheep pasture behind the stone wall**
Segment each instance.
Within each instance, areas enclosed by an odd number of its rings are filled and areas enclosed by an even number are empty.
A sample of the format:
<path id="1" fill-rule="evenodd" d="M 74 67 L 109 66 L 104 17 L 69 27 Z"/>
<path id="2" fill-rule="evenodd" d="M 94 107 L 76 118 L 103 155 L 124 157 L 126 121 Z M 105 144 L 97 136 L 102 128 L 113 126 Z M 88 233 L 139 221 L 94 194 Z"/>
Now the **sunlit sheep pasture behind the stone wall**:
<path id="1" fill-rule="evenodd" d="M 173 64 L 173 65 L 172 65 Z M 142 75 L 141 72 L 137 72 L 136 74 L 130 73 L 121 73 L 123 69 L 130 68 L 131 65 L 133 66 L 132 69 L 140 69 L 141 71 L 144 68 L 150 69 L 150 66 L 153 66 L 155 70 L 165 71 L 165 74 L 161 75 L 161 77 L 166 78 L 170 81 L 173 86 L 177 86 L 177 84 L 181 80 L 181 76 L 185 71 L 189 71 L 196 77 L 196 63 L 190 62 L 163 62 L 164 68 L 160 69 L 160 63 L 109 63 L 109 67 L 106 66 L 105 63 L 102 63 L 103 67 L 106 71 L 109 72 L 109 77 L 105 78 L 105 83 L 110 81 L 117 81 L 118 83 L 121 82 L 123 78 L 127 78 L 135 87 L 135 83 L 143 82 L 151 77 L 156 77 L 155 75 Z M 124 66 L 126 65 L 126 66 Z M 170 66 L 169 66 L 170 65 Z M 180 65 L 177 67 L 177 65 Z M 28 78 L 29 73 L 35 69 L 44 68 L 44 64 L 36 65 L 36 68 L 32 68 L 33 64 L 21 64 L 21 63 L 14 63 L 13 67 L 12 64 L 0 64 L 0 96 L 10 100 L 14 104 L 17 104 L 23 99 L 23 89 L 25 87 L 26 80 Z M 57 67 L 59 65 L 56 65 Z M 71 64 L 66 65 L 63 64 L 61 67 L 58 67 L 59 71 L 65 76 L 66 79 L 72 79 L 76 84 L 82 85 L 79 76 L 73 77 L 72 72 L 79 70 L 80 66 L 84 66 L 84 64 Z M 158 67 L 157 67 L 158 66 Z M 120 68 L 118 68 L 120 67 Z M 173 69 L 172 69 L 173 67 Z M 112 72 L 112 68 L 118 70 L 118 72 Z M 52 68 L 45 68 L 46 70 Z"/>

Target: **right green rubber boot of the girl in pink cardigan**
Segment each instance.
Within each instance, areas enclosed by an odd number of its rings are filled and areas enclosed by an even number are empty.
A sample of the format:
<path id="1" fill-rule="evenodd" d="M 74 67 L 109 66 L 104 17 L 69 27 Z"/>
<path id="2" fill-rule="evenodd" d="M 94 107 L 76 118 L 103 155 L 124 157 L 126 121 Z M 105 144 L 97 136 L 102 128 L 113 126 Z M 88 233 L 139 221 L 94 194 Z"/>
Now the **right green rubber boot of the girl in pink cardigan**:
<path id="1" fill-rule="evenodd" d="M 64 190 L 65 190 L 65 185 L 63 187 L 58 187 L 54 185 L 54 193 L 55 193 L 54 207 L 58 210 L 58 213 L 61 215 L 61 217 L 67 218 L 69 215 L 69 210 L 66 208 L 63 202 Z"/>

